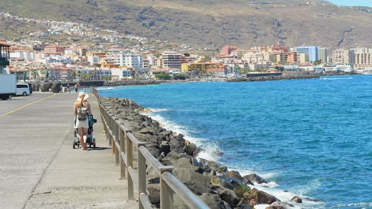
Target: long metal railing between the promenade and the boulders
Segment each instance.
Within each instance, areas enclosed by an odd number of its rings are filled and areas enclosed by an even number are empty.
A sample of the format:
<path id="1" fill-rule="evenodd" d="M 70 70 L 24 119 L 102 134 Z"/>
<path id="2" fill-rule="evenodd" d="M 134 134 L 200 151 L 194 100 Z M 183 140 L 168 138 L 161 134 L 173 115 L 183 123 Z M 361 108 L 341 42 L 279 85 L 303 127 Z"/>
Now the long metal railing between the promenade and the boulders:
<path id="1" fill-rule="evenodd" d="M 96 89 L 93 94 L 97 97 L 101 120 L 104 125 L 106 138 L 109 146 L 112 146 L 112 154 L 115 155 L 115 165 L 120 165 L 120 179 L 128 181 L 128 201 L 135 200 L 137 189 L 139 208 L 153 209 L 146 193 L 146 165 L 153 167 L 160 177 L 160 209 L 173 209 L 173 194 L 179 198 L 190 209 L 210 209 L 197 195 L 192 193 L 180 180 L 173 176 L 173 166 L 161 164 L 148 149 L 146 142 L 140 142 L 133 134 L 119 122 L 104 105 Z M 133 167 L 133 146 L 137 149 L 138 166 L 137 172 Z"/>

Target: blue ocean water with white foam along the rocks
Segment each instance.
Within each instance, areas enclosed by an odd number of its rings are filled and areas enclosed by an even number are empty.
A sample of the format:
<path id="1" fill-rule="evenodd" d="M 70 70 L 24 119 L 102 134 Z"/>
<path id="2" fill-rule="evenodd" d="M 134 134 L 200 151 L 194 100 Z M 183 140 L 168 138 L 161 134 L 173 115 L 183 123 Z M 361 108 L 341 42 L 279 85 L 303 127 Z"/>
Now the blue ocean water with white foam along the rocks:
<path id="1" fill-rule="evenodd" d="M 99 88 L 154 110 L 167 129 L 257 188 L 304 209 L 372 208 L 372 76 Z M 224 152 L 217 156 L 216 150 Z M 318 199 L 310 201 L 307 198 Z M 264 205 L 255 207 L 265 208 Z"/>

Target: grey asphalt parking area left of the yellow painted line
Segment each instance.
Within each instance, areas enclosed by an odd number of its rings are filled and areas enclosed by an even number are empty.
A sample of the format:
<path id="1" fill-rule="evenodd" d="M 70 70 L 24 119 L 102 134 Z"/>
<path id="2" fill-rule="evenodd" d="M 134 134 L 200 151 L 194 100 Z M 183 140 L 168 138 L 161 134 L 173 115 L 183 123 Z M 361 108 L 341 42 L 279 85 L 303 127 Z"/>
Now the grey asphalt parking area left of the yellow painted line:
<path id="1" fill-rule="evenodd" d="M 49 92 L 32 92 L 29 96 L 16 96 L 12 97 L 12 99 L 0 100 L 0 116 L 50 95 L 53 94 Z"/>

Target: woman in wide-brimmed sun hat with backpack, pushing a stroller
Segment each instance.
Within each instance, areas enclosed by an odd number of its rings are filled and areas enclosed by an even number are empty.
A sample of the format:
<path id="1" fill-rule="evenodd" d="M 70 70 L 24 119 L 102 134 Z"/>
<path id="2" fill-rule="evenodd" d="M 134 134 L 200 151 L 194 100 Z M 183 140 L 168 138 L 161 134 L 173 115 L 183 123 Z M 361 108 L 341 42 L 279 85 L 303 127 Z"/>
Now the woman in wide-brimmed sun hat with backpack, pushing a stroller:
<path id="1" fill-rule="evenodd" d="M 81 149 L 87 150 L 87 138 L 89 119 L 88 115 L 92 115 L 91 105 L 88 99 L 89 95 L 84 92 L 80 92 L 78 99 L 74 103 L 74 115 L 76 118 L 75 128 L 78 129 L 78 136 L 81 145 Z"/>

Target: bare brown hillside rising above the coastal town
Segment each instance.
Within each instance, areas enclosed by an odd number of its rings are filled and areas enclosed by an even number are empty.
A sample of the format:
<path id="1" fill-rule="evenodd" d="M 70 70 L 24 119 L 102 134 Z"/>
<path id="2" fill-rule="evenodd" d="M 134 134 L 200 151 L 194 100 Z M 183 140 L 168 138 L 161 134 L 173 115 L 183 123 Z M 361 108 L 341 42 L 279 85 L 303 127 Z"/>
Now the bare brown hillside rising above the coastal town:
<path id="1" fill-rule="evenodd" d="M 306 0 L 1 0 L 0 12 L 200 46 L 371 46 L 372 14 Z M 2 21 L 2 20 L 0 20 Z M 2 30 L 2 29 L 1 29 Z"/>

